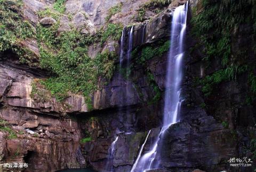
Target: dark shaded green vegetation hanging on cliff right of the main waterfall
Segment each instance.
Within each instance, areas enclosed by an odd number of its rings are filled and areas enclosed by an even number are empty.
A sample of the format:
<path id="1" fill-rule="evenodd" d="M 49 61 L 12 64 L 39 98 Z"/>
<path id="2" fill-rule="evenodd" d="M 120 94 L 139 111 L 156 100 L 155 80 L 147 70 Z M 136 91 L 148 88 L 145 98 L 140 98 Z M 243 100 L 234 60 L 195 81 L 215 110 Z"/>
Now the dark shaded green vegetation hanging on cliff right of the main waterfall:
<path id="1" fill-rule="evenodd" d="M 252 0 L 236 1 L 202 1 L 201 12 L 191 21 L 193 24 L 193 35 L 198 38 L 203 47 L 205 60 L 220 58 L 228 79 L 236 79 L 240 73 L 247 72 L 248 82 L 251 86 L 249 101 L 255 100 L 256 77 L 255 60 L 250 52 L 255 54 L 256 48 L 250 49 L 247 45 L 236 45 L 236 35 L 241 33 L 241 26 L 251 26 L 252 31 L 247 32 L 251 36 L 252 45 L 255 45 L 256 38 L 256 3 Z M 195 14 L 195 12 L 194 12 Z M 234 38 L 234 39 L 233 39 Z M 234 46 L 234 47 L 233 47 Z M 218 72 L 218 71 L 217 71 Z M 224 78 L 224 77 L 221 77 Z M 209 77 L 205 80 L 209 80 Z M 207 82 L 209 83 L 209 82 Z M 220 83 L 215 82 L 215 84 Z M 213 86 L 208 84 L 203 87 L 206 95 Z M 208 88 L 206 88 L 208 87 Z"/>

